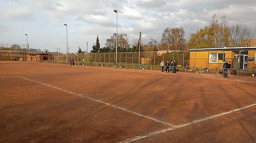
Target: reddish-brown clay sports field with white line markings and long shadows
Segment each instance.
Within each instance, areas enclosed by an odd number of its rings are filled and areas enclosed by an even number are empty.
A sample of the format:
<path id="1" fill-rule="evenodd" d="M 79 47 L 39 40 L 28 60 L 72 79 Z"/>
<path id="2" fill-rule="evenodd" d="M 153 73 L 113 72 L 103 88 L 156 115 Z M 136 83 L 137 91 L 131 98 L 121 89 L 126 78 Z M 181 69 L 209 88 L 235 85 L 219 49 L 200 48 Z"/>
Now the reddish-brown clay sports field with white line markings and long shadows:
<path id="1" fill-rule="evenodd" d="M 255 142 L 255 77 L 0 61 L 0 143 Z"/>

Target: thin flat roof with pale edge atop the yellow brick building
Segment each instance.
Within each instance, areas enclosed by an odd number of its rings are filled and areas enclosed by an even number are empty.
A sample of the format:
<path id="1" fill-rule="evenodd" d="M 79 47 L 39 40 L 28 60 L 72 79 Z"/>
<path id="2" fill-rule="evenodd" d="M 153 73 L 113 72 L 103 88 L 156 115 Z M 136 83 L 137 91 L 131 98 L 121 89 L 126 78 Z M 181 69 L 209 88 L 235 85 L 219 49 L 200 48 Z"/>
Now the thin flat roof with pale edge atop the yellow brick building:
<path id="1" fill-rule="evenodd" d="M 189 51 L 227 51 L 227 50 L 256 50 L 256 47 L 225 47 L 225 48 L 202 48 L 189 49 Z"/>

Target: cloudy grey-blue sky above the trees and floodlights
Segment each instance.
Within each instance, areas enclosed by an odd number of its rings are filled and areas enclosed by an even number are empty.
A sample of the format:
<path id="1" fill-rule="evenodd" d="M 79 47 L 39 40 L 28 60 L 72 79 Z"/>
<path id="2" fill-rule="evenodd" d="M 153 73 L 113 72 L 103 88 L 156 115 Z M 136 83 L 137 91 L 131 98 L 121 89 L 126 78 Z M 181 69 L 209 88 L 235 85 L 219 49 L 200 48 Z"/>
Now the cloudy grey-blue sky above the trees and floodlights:
<path id="1" fill-rule="evenodd" d="M 143 43 L 160 42 L 168 27 L 183 27 L 188 40 L 213 14 L 219 21 L 225 15 L 228 25 L 246 25 L 256 39 L 256 0 L 0 0 L 0 42 L 28 40 L 29 48 L 62 53 L 68 42 L 69 53 L 90 52 L 97 36 L 104 47 L 116 33 L 116 18 L 118 34 L 127 34 L 130 44 L 140 32 Z"/>

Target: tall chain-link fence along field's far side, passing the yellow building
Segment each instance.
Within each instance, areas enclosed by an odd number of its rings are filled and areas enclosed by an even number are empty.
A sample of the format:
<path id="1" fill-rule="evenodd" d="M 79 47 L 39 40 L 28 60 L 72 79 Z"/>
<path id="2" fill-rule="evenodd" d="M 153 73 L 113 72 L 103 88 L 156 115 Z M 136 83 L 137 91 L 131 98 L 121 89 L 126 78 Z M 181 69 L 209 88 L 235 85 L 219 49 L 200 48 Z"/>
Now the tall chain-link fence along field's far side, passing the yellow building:
<path id="1" fill-rule="evenodd" d="M 0 55 L 0 60 L 18 61 L 20 58 L 26 60 L 25 53 L 7 53 L 7 56 Z M 47 60 L 39 60 L 37 62 L 48 62 L 48 63 L 58 63 L 58 64 L 70 64 L 70 59 L 74 59 L 76 65 L 90 65 L 90 60 L 93 61 L 93 66 L 111 66 L 113 61 L 117 59 L 117 64 L 119 67 L 126 68 L 145 68 L 157 69 L 162 61 L 165 63 L 172 60 L 176 60 L 177 67 L 180 70 L 186 69 L 187 72 L 205 72 L 205 73 L 221 73 L 220 68 L 223 67 L 223 61 L 227 60 L 231 62 L 230 74 L 237 75 L 252 75 L 255 73 L 256 63 L 248 61 L 248 56 L 234 56 L 233 58 L 217 59 L 217 61 L 212 62 L 209 58 L 209 53 L 204 54 L 205 58 L 201 58 L 199 52 L 193 53 L 189 51 L 157 51 L 157 52 L 127 52 L 127 53 L 58 53 L 58 54 L 48 54 Z M 140 55 L 140 58 L 139 58 Z M 248 61 L 248 62 L 247 62 Z M 179 69 L 179 68 L 177 68 Z M 201 69 L 200 71 L 198 71 Z M 234 70 L 236 69 L 236 70 Z"/>

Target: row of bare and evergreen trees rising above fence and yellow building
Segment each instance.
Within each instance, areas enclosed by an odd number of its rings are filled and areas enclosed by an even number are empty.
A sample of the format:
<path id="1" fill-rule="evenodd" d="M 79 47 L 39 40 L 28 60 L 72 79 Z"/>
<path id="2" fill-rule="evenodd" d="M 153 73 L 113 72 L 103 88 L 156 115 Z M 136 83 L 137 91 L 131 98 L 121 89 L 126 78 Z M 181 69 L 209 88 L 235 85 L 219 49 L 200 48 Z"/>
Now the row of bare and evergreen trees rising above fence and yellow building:
<path id="1" fill-rule="evenodd" d="M 148 43 L 140 43 L 139 39 L 134 39 L 129 43 L 127 34 L 117 34 L 117 52 L 138 52 L 140 51 L 158 51 L 158 50 L 189 50 L 194 48 L 224 48 L 224 47 L 245 47 L 242 40 L 252 39 L 250 29 L 243 24 L 229 25 L 226 16 L 223 15 L 218 20 L 216 14 L 213 14 L 209 25 L 198 30 L 196 33 L 189 34 L 189 40 L 185 38 L 183 27 L 165 28 L 161 40 L 150 39 Z M 116 52 L 116 33 L 109 39 L 106 39 L 105 47 L 100 47 L 99 36 L 96 43 L 92 46 L 90 53 L 109 53 Z M 79 47 L 78 53 L 84 53 Z"/>

